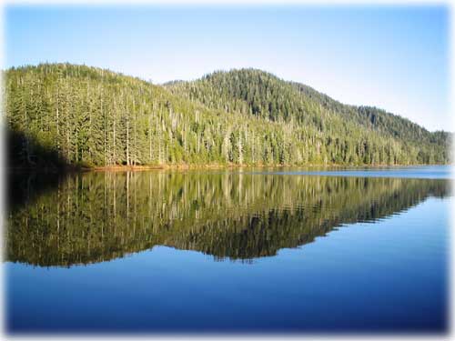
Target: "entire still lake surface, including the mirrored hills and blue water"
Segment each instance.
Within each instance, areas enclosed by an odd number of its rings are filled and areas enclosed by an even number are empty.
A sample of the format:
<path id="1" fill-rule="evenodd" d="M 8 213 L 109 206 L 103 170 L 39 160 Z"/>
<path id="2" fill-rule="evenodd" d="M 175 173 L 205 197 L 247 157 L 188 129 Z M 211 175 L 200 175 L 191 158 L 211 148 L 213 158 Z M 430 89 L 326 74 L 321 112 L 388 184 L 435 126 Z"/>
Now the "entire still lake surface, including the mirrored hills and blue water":
<path id="1" fill-rule="evenodd" d="M 445 333 L 448 166 L 11 176 L 8 333 Z"/>

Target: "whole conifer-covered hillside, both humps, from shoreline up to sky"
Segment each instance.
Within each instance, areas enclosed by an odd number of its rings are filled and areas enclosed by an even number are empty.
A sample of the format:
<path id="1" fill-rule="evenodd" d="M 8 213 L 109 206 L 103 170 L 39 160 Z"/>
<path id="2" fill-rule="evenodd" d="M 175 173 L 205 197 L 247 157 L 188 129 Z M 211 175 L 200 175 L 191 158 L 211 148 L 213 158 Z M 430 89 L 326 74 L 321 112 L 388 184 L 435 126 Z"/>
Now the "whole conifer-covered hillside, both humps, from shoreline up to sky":
<path id="1" fill-rule="evenodd" d="M 41 64 L 4 79 L 13 166 L 449 162 L 449 133 L 254 69 L 152 85 Z"/>

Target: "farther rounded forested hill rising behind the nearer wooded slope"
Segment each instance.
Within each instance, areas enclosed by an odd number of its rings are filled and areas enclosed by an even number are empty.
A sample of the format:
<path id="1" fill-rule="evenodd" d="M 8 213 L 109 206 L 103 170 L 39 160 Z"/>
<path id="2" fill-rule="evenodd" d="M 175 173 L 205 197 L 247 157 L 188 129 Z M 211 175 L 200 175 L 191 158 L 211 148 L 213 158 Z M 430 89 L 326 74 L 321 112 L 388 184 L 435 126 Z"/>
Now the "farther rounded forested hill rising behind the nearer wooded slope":
<path id="1" fill-rule="evenodd" d="M 344 126 L 358 124 L 405 143 L 443 145 L 449 140 L 449 134 L 430 133 L 399 115 L 371 106 L 343 105 L 308 85 L 286 82 L 256 69 L 215 72 L 195 82 L 170 82 L 167 87 L 173 93 L 210 107 L 273 121 L 294 119 L 305 125 L 316 125 L 320 131 L 338 128 L 341 117 Z"/>

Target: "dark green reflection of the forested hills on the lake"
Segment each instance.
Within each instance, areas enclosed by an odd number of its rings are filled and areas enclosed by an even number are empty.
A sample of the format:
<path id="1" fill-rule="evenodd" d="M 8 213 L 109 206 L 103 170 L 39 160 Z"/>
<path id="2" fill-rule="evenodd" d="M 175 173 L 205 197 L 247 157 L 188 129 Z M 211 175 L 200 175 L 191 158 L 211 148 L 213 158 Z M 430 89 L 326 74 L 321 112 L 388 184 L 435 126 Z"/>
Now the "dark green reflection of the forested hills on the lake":
<path id="1" fill-rule="evenodd" d="M 40 179 L 11 182 L 8 261 L 73 266 L 158 245 L 250 261 L 449 194 L 446 180 L 410 178 L 106 172 Z"/>

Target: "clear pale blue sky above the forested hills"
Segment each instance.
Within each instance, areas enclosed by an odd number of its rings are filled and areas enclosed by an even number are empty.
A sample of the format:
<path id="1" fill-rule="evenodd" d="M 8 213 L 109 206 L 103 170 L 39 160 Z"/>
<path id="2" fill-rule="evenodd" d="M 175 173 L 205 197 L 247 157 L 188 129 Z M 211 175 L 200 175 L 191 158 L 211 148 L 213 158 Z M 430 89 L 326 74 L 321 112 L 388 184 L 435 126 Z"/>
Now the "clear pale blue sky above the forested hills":
<path id="1" fill-rule="evenodd" d="M 6 67 L 95 65 L 163 83 L 255 67 L 451 129 L 447 6 L 8 6 Z"/>

